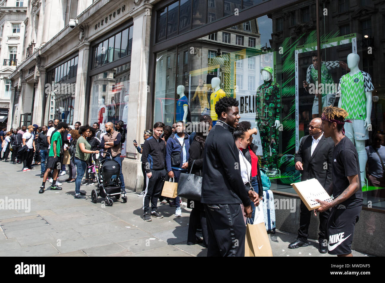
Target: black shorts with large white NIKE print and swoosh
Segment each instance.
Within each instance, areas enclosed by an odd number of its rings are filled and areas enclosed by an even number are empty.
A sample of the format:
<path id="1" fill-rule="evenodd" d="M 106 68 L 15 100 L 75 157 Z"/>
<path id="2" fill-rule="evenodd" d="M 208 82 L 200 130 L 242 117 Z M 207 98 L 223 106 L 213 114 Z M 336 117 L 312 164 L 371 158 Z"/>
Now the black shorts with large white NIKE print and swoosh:
<path id="1" fill-rule="evenodd" d="M 346 255 L 352 252 L 354 228 L 360 218 L 361 209 L 362 206 L 331 208 L 326 226 L 330 255 Z"/>

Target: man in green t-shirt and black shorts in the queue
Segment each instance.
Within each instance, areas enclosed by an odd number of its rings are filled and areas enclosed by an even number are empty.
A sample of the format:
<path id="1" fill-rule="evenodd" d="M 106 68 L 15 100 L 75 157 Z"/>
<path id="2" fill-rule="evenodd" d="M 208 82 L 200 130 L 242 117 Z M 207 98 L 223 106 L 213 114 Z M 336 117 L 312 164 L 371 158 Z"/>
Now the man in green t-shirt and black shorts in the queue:
<path id="1" fill-rule="evenodd" d="M 47 181 L 47 178 L 52 169 L 54 169 L 54 181 L 52 181 L 51 190 L 59 191 L 62 189 L 61 187 L 56 186 L 56 180 L 57 180 L 57 176 L 59 175 L 59 170 L 62 167 L 62 165 L 60 164 L 60 156 L 61 156 L 60 151 L 63 147 L 63 144 L 62 144 L 63 139 L 61 134 L 67 128 L 68 128 L 67 123 L 60 122 L 59 124 L 57 124 L 57 130 L 52 134 L 51 147 L 49 149 L 48 159 L 45 165 L 43 183 L 42 183 L 42 186 L 39 188 L 40 194 L 44 193 L 45 182 Z"/>

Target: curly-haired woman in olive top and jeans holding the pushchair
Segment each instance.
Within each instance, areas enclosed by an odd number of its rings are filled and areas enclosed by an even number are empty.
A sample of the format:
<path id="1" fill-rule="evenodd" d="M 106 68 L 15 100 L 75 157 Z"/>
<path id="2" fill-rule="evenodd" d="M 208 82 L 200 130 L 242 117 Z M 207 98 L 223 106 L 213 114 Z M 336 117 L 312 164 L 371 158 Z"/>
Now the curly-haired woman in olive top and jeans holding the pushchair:
<path id="1" fill-rule="evenodd" d="M 87 142 L 87 137 L 91 134 L 89 125 L 81 126 L 79 128 L 80 137 L 76 142 L 76 153 L 74 163 L 76 165 L 76 181 L 75 181 L 75 198 L 84 199 L 85 196 L 80 194 L 80 185 L 87 167 L 86 160 L 92 153 L 99 153 L 99 151 L 91 151 L 91 145 Z"/>

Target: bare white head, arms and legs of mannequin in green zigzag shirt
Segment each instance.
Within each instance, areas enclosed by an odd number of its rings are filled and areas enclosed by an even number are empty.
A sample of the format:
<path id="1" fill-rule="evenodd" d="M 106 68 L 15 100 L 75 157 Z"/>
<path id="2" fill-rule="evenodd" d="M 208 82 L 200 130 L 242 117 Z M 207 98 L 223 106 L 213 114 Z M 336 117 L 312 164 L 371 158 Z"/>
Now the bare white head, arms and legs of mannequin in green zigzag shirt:
<path id="1" fill-rule="evenodd" d="M 350 53 L 348 55 L 347 61 L 348 61 L 348 67 L 350 68 L 350 72 L 348 73 L 348 75 L 353 76 L 358 72 L 360 72 L 360 69 L 358 68 L 358 62 L 360 62 L 360 56 L 358 54 Z M 364 122 L 364 129 L 362 129 L 362 132 L 365 132 L 366 130 L 369 129 L 369 127 L 370 128 L 372 127 L 372 124 L 370 121 L 370 115 L 372 113 L 372 91 L 365 92 L 365 96 L 366 96 L 366 118 Z M 344 99 L 344 96 L 343 94 L 341 94 L 340 100 L 338 101 L 338 107 L 340 108 L 341 108 L 343 99 Z M 355 140 L 354 139 L 355 133 L 351 132 L 350 127 L 347 128 L 346 124 L 347 123 L 345 123 L 345 135 L 349 134 L 348 137 L 353 137 L 353 138 L 350 138 L 350 141 L 352 141 L 353 144 L 355 144 L 357 149 L 358 161 L 360 163 L 361 186 L 364 187 L 366 186 L 365 166 L 368 159 L 368 156 L 365 150 L 365 140 Z"/>

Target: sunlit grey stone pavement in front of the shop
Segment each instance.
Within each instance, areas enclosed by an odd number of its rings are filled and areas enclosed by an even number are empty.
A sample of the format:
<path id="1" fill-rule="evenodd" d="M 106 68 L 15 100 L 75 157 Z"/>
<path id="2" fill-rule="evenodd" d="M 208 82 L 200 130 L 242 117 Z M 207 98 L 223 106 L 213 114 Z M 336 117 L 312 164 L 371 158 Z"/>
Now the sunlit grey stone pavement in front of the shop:
<path id="1" fill-rule="evenodd" d="M 22 164 L 1 161 L 0 179 L 0 202 L 8 200 L 0 210 L 0 256 L 206 256 L 206 248 L 186 244 L 191 209 L 184 206 L 181 218 L 165 204 L 158 208 L 164 218 L 145 222 L 143 198 L 129 190 L 127 203 L 114 199 L 109 207 L 100 197 L 91 202 L 93 186 L 81 187 L 86 199 L 74 199 L 75 183 L 62 182 L 62 191 L 50 191 L 47 182 L 48 190 L 39 194 L 40 166 L 22 172 Z M 26 199 L 30 206 L 12 209 L 15 199 Z M 290 250 L 296 235 L 277 230 L 269 238 L 274 256 L 329 256 L 318 252 L 314 240 Z"/>

